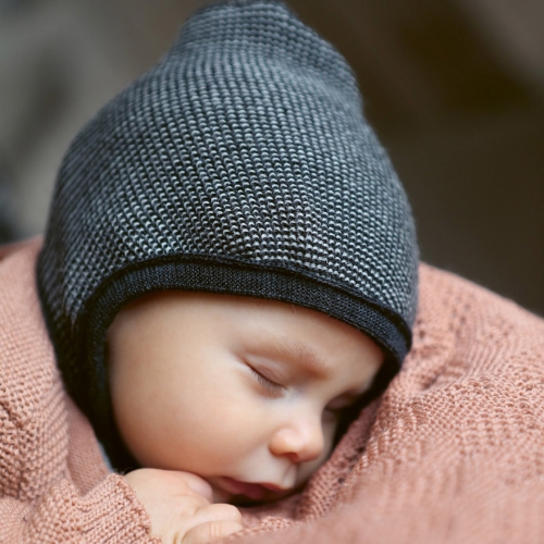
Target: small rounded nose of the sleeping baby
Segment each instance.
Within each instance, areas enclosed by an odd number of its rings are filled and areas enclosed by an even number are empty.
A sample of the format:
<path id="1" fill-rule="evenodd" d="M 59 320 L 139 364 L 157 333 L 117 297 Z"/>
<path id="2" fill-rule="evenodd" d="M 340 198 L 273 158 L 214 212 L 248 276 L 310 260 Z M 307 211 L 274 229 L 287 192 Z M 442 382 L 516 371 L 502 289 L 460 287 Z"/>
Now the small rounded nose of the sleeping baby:
<path id="1" fill-rule="evenodd" d="M 279 429 L 270 441 L 272 455 L 287 457 L 292 462 L 317 459 L 324 447 L 321 419 L 302 417 L 292 419 Z"/>

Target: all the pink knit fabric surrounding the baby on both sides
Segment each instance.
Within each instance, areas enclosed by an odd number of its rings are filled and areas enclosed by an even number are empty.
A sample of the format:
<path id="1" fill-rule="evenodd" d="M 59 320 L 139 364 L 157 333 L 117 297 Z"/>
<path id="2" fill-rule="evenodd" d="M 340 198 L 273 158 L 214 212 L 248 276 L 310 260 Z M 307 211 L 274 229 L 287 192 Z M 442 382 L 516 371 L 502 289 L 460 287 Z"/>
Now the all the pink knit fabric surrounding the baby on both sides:
<path id="1" fill-rule="evenodd" d="M 151 543 L 65 394 L 35 287 L 39 242 L 0 260 L 0 542 Z M 413 348 L 307 490 L 233 542 L 540 544 L 544 321 L 422 265 Z"/>

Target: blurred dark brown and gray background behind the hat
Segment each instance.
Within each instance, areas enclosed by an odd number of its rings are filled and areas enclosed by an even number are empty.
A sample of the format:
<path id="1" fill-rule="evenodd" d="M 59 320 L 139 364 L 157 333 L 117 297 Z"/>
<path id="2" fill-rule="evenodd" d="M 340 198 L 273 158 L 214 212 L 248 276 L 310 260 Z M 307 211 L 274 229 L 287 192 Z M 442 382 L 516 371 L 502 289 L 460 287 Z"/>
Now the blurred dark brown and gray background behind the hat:
<path id="1" fill-rule="evenodd" d="M 0 0 L 0 240 L 44 230 L 85 121 L 205 0 Z M 287 0 L 355 69 L 422 258 L 544 316 L 544 1 Z"/>

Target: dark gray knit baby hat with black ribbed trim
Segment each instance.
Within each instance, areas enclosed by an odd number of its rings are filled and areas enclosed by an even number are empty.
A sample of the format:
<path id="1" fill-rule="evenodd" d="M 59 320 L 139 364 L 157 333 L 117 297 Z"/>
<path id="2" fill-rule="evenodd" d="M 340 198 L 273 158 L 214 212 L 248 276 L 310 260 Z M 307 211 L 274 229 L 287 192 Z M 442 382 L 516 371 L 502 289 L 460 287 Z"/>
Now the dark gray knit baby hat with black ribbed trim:
<path id="1" fill-rule="evenodd" d="M 79 133 L 38 282 L 67 391 L 114 465 L 104 337 L 157 289 L 250 295 L 363 331 L 396 368 L 418 251 L 406 195 L 342 55 L 285 5 L 206 8 Z"/>

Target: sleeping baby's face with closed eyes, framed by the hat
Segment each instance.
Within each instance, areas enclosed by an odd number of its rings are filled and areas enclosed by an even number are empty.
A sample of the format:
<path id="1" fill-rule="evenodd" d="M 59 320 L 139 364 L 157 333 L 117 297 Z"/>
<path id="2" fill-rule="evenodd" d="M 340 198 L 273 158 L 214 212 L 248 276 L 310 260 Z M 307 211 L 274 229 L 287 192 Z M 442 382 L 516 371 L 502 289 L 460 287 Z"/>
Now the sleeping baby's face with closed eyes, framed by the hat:
<path id="1" fill-rule="evenodd" d="M 383 354 L 356 329 L 284 302 L 153 294 L 108 333 L 120 432 L 143 467 L 207 480 L 217 502 L 269 502 L 331 453 L 338 413 Z"/>

